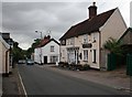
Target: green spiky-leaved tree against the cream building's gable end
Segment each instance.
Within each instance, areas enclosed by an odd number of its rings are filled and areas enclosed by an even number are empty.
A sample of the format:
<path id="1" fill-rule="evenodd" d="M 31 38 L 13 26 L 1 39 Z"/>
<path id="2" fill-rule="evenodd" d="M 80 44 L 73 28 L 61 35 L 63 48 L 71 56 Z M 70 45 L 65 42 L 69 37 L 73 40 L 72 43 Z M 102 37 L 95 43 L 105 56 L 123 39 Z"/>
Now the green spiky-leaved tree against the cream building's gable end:
<path id="1" fill-rule="evenodd" d="M 123 50 L 122 50 L 122 44 L 121 42 L 117 41 L 113 37 L 109 37 L 108 41 L 106 41 L 106 43 L 103 44 L 103 47 L 108 51 L 110 51 L 110 53 L 113 53 L 116 55 L 122 55 Z"/>

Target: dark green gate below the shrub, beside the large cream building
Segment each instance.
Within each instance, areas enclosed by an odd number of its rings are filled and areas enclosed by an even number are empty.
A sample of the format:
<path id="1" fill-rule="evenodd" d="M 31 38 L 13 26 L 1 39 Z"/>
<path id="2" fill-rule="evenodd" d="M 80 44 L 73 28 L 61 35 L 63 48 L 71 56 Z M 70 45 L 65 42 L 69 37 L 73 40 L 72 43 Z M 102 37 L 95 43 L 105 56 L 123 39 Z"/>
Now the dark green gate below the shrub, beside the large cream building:
<path id="1" fill-rule="evenodd" d="M 108 60 L 107 60 L 107 71 L 113 71 L 116 69 L 117 66 L 117 57 L 114 54 L 108 54 Z"/>

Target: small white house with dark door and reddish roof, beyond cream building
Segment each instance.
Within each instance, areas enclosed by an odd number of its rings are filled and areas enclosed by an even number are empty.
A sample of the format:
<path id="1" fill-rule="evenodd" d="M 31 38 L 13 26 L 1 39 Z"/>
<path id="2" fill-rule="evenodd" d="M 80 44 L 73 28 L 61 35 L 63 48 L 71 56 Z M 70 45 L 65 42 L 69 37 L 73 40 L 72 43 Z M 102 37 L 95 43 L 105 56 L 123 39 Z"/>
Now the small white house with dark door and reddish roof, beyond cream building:
<path id="1" fill-rule="evenodd" d="M 34 62 L 41 64 L 50 64 L 59 62 L 59 43 L 45 36 L 34 50 Z"/>

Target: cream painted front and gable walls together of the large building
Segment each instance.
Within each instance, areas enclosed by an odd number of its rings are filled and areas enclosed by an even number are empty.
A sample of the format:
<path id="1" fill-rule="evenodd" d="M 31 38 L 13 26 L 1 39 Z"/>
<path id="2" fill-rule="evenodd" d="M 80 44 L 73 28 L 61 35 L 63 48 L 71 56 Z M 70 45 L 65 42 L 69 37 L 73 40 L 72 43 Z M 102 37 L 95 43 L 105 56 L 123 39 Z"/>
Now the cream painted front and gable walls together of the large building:
<path id="1" fill-rule="evenodd" d="M 91 33 L 90 35 L 88 35 L 88 43 L 92 44 L 91 48 L 82 48 L 82 43 L 84 43 L 84 35 L 79 35 L 77 37 L 75 37 L 75 44 L 74 45 L 62 45 L 61 46 L 61 53 L 62 53 L 62 57 L 61 61 L 62 62 L 67 62 L 67 47 L 75 47 L 75 46 L 79 46 L 79 54 L 81 53 L 81 55 L 84 56 L 84 50 L 88 50 L 88 62 L 84 62 L 84 57 L 80 61 L 80 64 L 89 64 L 90 67 L 94 68 L 100 68 L 100 47 L 102 47 L 102 45 L 106 43 L 106 41 L 111 36 L 113 39 L 119 39 L 127 30 L 127 25 L 124 23 L 124 20 L 119 11 L 119 9 L 117 9 L 112 15 L 108 19 L 108 21 L 105 23 L 103 26 L 100 28 L 100 33 L 99 32 L 95 32 Z M 92 43 L 92 36 L 97 37 L 96 43 Z M 100 37 L 101 36 L 101 37 Z M 66 43 L 68 43 L 68 40 L 66 40 Z M 101 43 L 99 43 L 101 42 Z M 97 51 L 97 63 L 92 63 L 92 51 L 96 50 Z M 65 51 L 65 52 L 64 52 Z M 64 57 L 64 58 L 63 58 Z"/>

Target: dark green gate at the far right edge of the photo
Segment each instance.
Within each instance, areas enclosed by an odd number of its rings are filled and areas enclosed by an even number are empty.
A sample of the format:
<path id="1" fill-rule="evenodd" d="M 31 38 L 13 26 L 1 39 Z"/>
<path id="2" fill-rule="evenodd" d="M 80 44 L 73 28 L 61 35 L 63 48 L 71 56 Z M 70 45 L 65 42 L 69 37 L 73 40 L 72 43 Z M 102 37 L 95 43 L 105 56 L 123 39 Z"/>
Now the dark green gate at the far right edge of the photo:
<path id="1" fill-rule="evenodd" d="M 127 75 L 132 76 L 132 54 L 127 55 Z"/>

